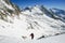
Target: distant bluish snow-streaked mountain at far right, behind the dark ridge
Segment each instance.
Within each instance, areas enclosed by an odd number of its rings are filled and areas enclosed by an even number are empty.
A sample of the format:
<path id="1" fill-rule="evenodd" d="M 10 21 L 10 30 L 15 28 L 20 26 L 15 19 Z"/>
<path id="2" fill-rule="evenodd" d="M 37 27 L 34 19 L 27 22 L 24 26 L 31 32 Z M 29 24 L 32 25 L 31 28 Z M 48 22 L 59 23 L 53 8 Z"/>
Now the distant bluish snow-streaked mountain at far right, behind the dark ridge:
<path id="1" fill-rule="evenodd" d="M 61 9 L 50 9 L 54 15 L 58 16 L 61 20 L 65 22 L 65 11 Z"/>

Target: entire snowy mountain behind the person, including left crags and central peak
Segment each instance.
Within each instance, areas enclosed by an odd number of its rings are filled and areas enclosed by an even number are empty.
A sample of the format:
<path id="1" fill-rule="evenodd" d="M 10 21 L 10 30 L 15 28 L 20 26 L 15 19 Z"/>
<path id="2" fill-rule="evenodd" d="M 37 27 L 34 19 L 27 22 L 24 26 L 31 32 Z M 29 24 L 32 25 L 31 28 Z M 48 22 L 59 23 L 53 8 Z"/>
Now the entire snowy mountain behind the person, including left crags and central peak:
<path id="1" fill-rule="evenodd" d="M 43 5 L 25 8 L 22 11 L 10 2 L 0 0 L 0 35 L 23 40 L 47 38 L 65 33 L 65 23 Z M 50 17 L 51 16 L 51 17 Z"/>

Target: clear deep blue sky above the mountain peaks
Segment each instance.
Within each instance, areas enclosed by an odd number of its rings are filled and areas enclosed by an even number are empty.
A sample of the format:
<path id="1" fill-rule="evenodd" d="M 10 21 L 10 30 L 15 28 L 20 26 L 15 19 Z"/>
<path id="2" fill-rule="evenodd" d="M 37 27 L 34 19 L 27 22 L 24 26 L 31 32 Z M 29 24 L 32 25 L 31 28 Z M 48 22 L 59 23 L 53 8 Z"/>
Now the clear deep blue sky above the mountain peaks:
<path id="1" fill-rule="evenodd" d="M 46 8 L 57 8 L 65 10 L 65 0 L 11 0 L 11 1 L 17 4 L 20 8 L 43 4 Z"/>

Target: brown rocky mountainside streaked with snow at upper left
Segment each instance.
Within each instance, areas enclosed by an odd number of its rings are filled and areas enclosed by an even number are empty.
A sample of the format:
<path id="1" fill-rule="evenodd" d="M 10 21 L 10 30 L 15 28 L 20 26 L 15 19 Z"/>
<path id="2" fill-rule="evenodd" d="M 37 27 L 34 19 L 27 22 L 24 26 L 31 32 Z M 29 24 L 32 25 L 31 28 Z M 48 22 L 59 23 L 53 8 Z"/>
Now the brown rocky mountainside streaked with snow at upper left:
<path id="1" fill-rule="evenodd" d="M 20 8 L 10 0 L 0 0 L 0 18 L 6 20 L 8 16 L 18 15 Z M 6 20 L 8 22 L 8 20 Z"/>

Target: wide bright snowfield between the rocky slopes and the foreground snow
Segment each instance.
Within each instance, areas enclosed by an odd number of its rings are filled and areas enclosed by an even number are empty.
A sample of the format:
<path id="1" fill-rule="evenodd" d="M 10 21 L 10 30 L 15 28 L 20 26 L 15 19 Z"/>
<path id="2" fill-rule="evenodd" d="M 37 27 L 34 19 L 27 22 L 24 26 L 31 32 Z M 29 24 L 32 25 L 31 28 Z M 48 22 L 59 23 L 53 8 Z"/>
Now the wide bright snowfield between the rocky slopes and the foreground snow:
<path id="1" fill-rule="evenodd" d="M 16 16 L 14 19 L 9 17 L 9 22 L 12 20 L 12 24 L 0 19 L 0 35 L 21 39 L 23 39 L 22 37 L 27 37 L 27 39 L 30 40 L 30 33 L 35 34 L 35 39 L 38 39 L 41 35 L 50 37 L 65 32 L 65 28 L 61 27 L 65 26 L 65 23 L 50 18 L 46 14 L 39 17 L 21 14 L 20 17 L 20 19 L 16 18 Z"/>

